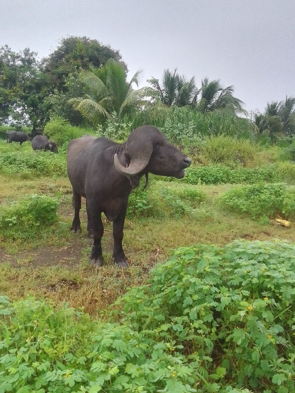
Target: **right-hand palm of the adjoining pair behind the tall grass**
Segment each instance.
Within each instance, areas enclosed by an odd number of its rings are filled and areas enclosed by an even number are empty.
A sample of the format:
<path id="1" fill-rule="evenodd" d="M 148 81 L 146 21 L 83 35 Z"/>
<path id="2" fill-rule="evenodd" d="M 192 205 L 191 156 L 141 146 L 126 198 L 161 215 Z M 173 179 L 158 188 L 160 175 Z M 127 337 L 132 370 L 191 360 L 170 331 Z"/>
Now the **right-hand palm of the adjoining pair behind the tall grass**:
<path id="1" fill-rule="evenodd" d="M 216 109 L 226 108 L 231 112 L 245 113 L 242 109 L 244 104 L 241 100 L 234 97 L 234 86 L 223 88 L 219 79 L 209 81 L 208 78 L 202 79 L 202 86 L 197 95 L 201 93 L 201 98 L 197 101 L 197 108 L 200 112 L 212 112 Z"/>

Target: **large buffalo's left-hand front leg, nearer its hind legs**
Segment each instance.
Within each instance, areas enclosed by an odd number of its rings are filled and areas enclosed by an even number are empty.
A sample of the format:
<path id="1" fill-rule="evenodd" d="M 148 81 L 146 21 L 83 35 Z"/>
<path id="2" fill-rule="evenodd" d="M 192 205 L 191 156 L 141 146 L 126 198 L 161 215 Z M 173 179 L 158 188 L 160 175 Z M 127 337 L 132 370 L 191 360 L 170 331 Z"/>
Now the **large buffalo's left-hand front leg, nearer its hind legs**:
<path id="1" fill-rule="evenodd" d="M 91 209 L 90 209 L 91 210 Z M 90 265 L 103 265 L 101 238 L 103 236 L 103 225 L 101 221 L 101 212 L 91 210 L 90 222 L 93 229 L 93 246 L 90 254 Z"/>

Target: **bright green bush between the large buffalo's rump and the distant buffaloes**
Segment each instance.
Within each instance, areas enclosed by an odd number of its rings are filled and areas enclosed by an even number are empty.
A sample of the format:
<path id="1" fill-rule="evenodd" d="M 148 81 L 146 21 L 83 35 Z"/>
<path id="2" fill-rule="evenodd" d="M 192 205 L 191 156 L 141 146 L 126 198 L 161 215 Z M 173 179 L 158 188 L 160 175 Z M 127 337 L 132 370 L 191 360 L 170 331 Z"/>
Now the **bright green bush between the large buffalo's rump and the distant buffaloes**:
<path id="1" fill-rule="evenodd" d="M 89 134 L 89 130 L 71 126 L 66 120 L 56 117 L 46 124 L 44 134 L 49 135 L 50 139 L 62 145 L 72 139 Z"/>

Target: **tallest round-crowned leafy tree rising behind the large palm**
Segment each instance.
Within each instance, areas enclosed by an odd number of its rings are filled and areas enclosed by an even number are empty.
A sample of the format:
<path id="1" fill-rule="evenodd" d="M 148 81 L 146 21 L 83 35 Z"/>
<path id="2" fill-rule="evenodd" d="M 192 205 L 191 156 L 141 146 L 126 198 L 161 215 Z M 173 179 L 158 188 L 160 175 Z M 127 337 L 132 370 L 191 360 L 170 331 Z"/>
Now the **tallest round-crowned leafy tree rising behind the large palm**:
<path id="1" fill-rule="evenodd" d="M 48 73 L 54 88 L 65 90 L 64 80 L 76 70 L 101 67 L 110 58 L 118 61 L 127 70 L 120 53 L 109 45 L 103 45 L 88 37 L 68 36 L 60 40 L 58 48 L 43 59 L 45 72 Z"/>

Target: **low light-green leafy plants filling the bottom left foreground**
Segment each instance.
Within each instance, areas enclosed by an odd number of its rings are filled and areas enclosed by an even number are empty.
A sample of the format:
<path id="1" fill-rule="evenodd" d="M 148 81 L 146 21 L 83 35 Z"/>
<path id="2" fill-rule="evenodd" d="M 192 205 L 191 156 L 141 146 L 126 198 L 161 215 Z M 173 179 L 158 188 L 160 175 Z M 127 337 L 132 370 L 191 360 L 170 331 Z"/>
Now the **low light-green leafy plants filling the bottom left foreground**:
<path id="1" fill-rule="evenodd" d="M 196 392 L 184 356 L 67 305 L 0 297 L 0 333 L 2 392 Z"/>

